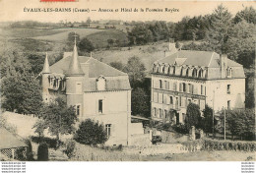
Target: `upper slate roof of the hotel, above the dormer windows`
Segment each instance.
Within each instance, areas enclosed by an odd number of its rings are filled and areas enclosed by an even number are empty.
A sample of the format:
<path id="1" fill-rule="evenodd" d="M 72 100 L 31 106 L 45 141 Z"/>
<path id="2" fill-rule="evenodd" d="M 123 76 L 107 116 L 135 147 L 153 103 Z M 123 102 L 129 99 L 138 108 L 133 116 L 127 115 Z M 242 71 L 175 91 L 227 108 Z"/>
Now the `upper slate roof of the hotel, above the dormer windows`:
<path id="1" fill-rule="evenodd" d="M 180 50 L 170 56 L 164 57 L 158 63 L 200 66 L 200 67 L 220 67 L 220 55 L 211 51 L 191 51 Z M 242 65 L 227 59 L 227 66 L 242 67 Z"/>

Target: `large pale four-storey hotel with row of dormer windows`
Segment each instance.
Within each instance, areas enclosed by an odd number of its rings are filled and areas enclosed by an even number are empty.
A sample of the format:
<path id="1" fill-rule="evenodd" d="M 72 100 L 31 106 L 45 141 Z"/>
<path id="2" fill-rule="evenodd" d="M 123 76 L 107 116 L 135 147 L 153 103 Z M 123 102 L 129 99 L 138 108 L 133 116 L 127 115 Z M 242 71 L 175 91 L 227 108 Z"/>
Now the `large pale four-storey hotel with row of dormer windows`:
<path id="1" fill-rule="evenodd" d="M 180 50 L 156 61 L 152 71 L 152 119 L 184 123 L 187 105 L 215 112 L 244 108 L 242 65 L 216 52 Z"/>

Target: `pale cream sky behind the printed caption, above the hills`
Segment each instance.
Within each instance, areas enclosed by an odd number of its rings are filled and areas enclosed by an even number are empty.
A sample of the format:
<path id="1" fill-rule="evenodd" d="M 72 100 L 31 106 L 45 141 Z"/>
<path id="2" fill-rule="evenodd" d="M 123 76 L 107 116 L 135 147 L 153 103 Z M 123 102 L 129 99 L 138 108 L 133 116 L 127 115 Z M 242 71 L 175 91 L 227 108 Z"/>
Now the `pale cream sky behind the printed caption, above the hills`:
<path id="1" fill-rule="evenodd" d="M 218 5 L 223 4 L 234 16 L 247 6 L 256 8 L 253 1 L 170 1 L 170 0 L 77 0 L 77 2 L 39 2 L 40 0 L 0 0 L 0 22 L 8 21 L 39 21 L 57 23 L 61 20 L 68 22 L 82 22 L 90 17 L 96 20 L 122 21 L 167 21 L 178 22 L 185 16 L 199 16 L 211 14 Z M 24 12 L 30 8 L 70 8 L 71 12 Z M 98 12 L 98 9 L 112 9 L 113 12 Z M 131 9 L 133 12 L 120 12 L 121 8 Z M 134 9 L 139 12 L 134 12 Z M 145 12 L 146 9 L 162 10 L 162 12 Z M 174 10 L 165 12 L 165 8 Z M 88 10 L 75 12 L 73 9 Z M 118 12 L 114 12 L 118 9 Z M 143 9 L 144 12 L 140 12 Z M 92 11 L 96 10 L 96 11 Z"/>

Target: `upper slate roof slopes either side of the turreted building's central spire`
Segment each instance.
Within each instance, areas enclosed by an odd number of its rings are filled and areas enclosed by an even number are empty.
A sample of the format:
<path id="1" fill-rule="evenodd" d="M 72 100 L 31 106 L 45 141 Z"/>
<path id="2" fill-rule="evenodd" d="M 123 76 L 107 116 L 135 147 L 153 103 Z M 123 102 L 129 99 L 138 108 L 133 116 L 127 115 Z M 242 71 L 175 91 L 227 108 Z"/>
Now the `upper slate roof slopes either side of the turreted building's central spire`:
<path id="1" fill-rule="evenodd" d="M 69 69 L 69 64 L 72 56 L 67 56 L 57 63 L 50 66 L 51 73 L 55 74 L 66 74 Z M 81 63 L 89 64 L 89 78 L 97 78 L 99 75 L 104 77 L 117 77 L 117 76 L 127 76 L 127 74 L 105 64 L 93 57 L 79 56 L 78 61 Z"/>

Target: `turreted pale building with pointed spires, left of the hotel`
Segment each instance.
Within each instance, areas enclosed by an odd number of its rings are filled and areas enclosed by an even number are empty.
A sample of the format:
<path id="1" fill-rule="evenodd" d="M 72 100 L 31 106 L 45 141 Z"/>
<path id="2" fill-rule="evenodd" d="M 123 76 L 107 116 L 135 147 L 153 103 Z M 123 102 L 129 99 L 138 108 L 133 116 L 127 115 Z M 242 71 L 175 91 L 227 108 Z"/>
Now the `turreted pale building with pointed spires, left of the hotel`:
<path id="1" fill-rule="evenodd" d="M 75 44 L 73 52 L 65 52 L 52 66 L 46 55 L 39 77 L 44 102 L 64 95 L 79 121 L 90 118 L 104 124 L 106 144 L 128 144 L 131 87 L 127 74 L 93 57 L 78 56 Z"/>

